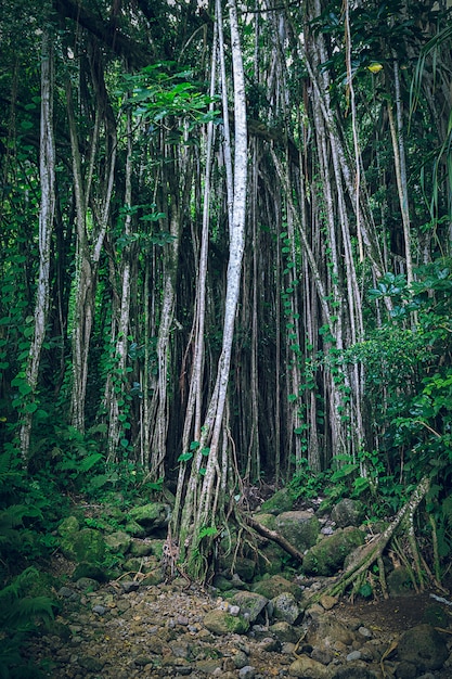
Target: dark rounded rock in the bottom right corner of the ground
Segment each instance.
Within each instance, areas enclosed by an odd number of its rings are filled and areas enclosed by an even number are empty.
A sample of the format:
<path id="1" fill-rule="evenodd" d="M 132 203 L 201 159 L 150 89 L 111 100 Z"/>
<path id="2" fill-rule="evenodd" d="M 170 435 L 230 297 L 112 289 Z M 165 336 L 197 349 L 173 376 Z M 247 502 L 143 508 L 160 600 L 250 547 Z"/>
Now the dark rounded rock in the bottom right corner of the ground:
<path id="1" fill-rule="evenodd" d="M 408 629 L 398 645 L 400 662 L 411 663 L 418 670 L 440 669 L 449 657 L 443 637 L 430 625 Z"/>

